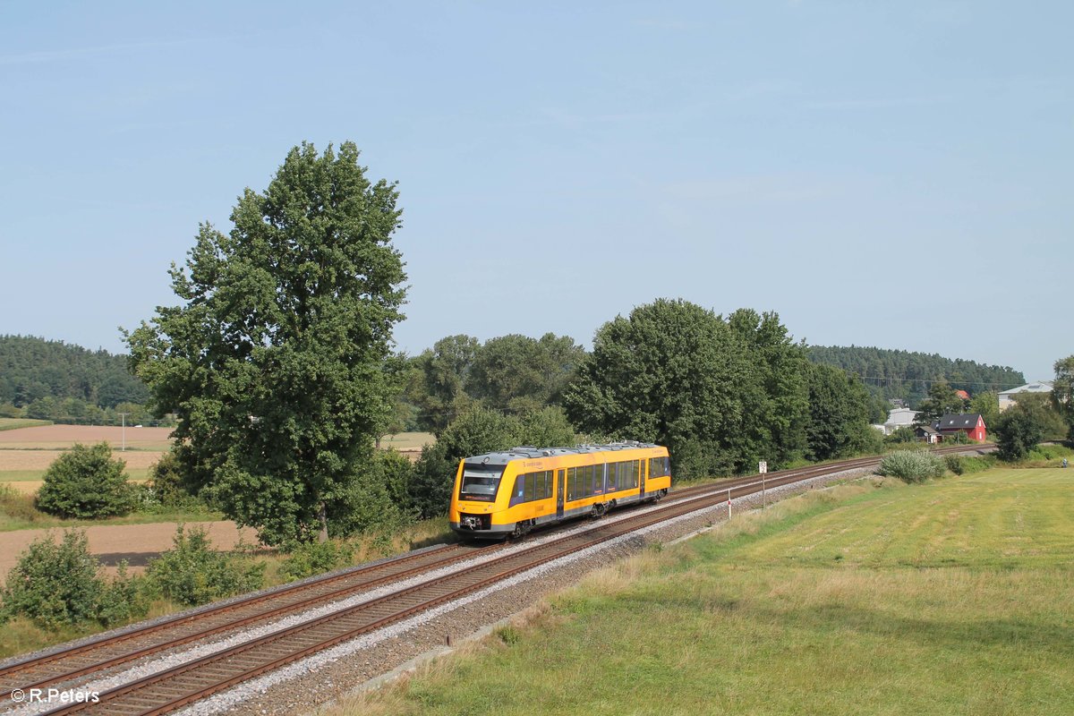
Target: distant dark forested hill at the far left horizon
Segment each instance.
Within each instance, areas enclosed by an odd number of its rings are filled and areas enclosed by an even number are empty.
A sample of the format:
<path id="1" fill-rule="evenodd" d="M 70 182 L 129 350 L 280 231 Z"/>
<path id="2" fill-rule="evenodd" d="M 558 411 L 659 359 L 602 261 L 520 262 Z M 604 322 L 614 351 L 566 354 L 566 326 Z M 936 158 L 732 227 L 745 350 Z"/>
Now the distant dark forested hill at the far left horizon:
<path id="1" fill-rule="evenodd" d="M 57 422 L 119 422 L 150 418 L 149 392 L 127 368 L 128 357 L 61 340 L 0 336 L 0 413 Z"/>

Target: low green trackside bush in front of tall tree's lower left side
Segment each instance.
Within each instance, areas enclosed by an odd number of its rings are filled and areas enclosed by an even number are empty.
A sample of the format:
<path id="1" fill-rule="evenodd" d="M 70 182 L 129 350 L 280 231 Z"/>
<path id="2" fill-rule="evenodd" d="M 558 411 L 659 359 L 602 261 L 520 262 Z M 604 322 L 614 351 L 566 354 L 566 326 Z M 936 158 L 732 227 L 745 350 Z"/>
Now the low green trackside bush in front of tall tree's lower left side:
<path id="1" fill-rule="evenodd" d="M 215 551 L 205 529 L 179 525 L 172 549 L 149 562 L 146 576 L 164 597 L 198 607 L 259 589 L 264 569 L 264 562 Z"/>

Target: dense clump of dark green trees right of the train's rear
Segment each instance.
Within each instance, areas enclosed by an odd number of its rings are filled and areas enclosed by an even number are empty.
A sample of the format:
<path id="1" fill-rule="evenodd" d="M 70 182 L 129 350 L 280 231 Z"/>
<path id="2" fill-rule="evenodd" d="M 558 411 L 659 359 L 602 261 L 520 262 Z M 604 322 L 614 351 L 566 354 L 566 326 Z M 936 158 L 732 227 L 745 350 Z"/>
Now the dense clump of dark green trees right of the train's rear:
<path id="1" fill-rule="evenodd" d="M 860 450 L 876 441 L 869 404 L 842 371 L 811 368 L 777 313 L 681 299 L 606 323 L 564 393 L 576 425 L 666 444 L 680 478 Z"/>

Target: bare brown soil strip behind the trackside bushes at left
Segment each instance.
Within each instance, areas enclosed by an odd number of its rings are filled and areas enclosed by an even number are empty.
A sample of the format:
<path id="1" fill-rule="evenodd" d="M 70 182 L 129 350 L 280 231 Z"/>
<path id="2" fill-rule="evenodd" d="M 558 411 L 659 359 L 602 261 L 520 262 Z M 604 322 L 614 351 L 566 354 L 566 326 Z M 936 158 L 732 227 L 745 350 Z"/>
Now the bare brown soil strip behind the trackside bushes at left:
<path id="1" fill-rule="evenodd" d="M 238 529 L 235 523 L 200 522 L 197 526 L 208 530 L 213 545 L 218 550 L 233 550 L 240 538 L 247 544 L 257 543 L 257 532 L 250 528 Z M 158 522 L 151 525 L 101 525 L 86 527 L 89 551 L 107 567 L 115 567 L 122 559 L 130 562 L 129 571 L 145 570 L 146 562 L 172 546 L 177 523 Z M 0 578 L 18 562 L 18 556 L 30 542 L 52 532 L 55 540 L 63 535 L 62 529 L 19 529 L 0 532 Z"/>

